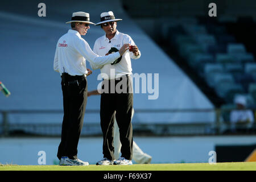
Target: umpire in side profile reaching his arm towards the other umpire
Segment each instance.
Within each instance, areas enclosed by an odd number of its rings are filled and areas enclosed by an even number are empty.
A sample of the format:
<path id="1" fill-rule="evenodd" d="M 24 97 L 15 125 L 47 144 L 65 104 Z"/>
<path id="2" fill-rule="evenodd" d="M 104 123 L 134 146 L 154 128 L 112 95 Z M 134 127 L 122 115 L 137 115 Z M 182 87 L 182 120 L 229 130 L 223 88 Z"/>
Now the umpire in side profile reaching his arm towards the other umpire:
<path id="1" fill-rule="evenodd" d="M 61 166 L 87 166 L 88 162 L 77 159 L 77 146 L 84 122 L 87 101 L 86 76 L 92 71 L 86 68 L 86 60 L 98 66 L 111 64 L 128 49 L 125 44 L 118 52 L 98 56 L 81 37 L 90 28 L 89 13 L 82 11 L 72 14 L 71 30 L 61 36 L 56 45 L 53 69 L 61 75 L 64 117 L 57 157 Z"/>

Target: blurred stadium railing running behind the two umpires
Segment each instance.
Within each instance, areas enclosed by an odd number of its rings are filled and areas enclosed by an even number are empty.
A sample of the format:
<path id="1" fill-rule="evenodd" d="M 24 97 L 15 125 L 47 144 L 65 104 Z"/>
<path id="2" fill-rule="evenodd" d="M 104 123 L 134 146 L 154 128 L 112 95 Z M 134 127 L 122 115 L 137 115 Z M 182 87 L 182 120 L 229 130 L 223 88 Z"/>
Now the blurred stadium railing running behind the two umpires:
<path id="1" fill-rule="evenodd" d="M 184 135 L 224 135 L 234 134 L 230 133 L 230 122 L 228 115 L 232 109 L 230 108 L 217 108 L 217 109 L 138 109 L 135 113 L 155 113 L 155 114 L 173 114 L 173 113 L 196 113 L 196 112 L 214 112 L 216 119 L 214 122 L 189 122 L 189 123 L 170 123 L 170 122 L 134 122 L 133 130 L 134 135 L 143 136 L 184 136 Z M 256 110 L 252 109 L 254 116 Z M 27 118 L 30 115 L 44 114 L 45 118 L 51 118 L 51 114 L 63 115 L 63 110 L 0 110 L 2 119 L 0 120 L 0 136 L 1 137 L 12 137 L 12 136 L 41 136 L 41 137 L 59 137 L 61 135 L 61 121 L 57 122 L 31 122 L 23 120 L 10 121 L 10 115 L 15 114 L 26 114 Z M 86 110 L 86 114 L 100 114 L 100 110 Z M 33 119 L 32 119 L 33 120 Z M 238 126 L 239 127 L 239 126 Z M 239 134 L 256 134 L 256 122 L 251 129 L 244 129 L 243 127 L 238 128 Z M 238 133 L 235 133 L 238 134 Z M 82 127 L 81 136 L 100 136 L 101 127 L 100 121 L 98 122 L 86 122 Z"/>

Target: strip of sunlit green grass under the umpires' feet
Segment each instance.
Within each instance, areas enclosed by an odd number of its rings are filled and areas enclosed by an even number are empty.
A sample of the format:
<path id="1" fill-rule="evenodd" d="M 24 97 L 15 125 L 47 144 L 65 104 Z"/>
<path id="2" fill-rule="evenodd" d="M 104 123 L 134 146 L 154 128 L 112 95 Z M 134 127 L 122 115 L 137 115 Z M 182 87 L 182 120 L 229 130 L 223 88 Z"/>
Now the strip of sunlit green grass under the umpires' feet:
<path id="1" fill-rule="evenodd" d="M 256 162 L 133 164 L 130 166 L 20 166 L 1 164 L 0 171 L 256 171 Z"/>

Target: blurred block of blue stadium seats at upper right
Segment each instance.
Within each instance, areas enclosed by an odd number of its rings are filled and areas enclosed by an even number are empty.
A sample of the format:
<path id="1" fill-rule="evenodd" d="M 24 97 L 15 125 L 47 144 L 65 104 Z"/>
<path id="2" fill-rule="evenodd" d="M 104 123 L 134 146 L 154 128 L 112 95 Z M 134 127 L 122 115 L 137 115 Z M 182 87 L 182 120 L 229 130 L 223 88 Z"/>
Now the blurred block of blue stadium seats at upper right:
<path id="1" fill-rule="evenodd" d="M 237 94 L 256 101 L 256 63 L 246 45 L 230 34 L 230 24 L 237 17 L 223 16 L 218 20 L 195 17 L 177 18 L 170 38 L 179 55 L 189 67 L 204 78 L 218 96 L 226 101 L 223 107 L 233 107 Z M 227 23 L 228 22 L 228 23 Z M 232 108 L 231 108 L 232 109 Z"/>

